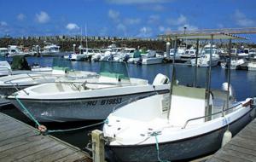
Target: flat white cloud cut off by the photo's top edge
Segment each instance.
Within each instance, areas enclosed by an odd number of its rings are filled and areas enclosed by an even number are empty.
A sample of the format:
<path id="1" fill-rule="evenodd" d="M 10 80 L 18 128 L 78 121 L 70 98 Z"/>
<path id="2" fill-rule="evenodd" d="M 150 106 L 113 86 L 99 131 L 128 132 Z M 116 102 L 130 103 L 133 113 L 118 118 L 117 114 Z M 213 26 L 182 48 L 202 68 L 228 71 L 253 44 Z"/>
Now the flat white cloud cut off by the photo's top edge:
<path id="1" fill-rule="evenodd" d="M 167 3 L 170 0 L 107 0 L 108 3 L 115 4 L 143 4 L 143 3 Z"/>

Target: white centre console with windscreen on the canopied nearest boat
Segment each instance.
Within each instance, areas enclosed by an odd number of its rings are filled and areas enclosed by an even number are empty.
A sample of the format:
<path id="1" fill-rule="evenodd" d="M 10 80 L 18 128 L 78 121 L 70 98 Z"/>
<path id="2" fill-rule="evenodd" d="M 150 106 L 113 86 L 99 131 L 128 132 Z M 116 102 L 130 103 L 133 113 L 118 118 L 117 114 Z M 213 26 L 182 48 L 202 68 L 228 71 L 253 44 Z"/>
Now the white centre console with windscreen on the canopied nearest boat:
<path id="1" fill-rule="evenodd" d="M 170 124 L 183 127 L 187 120 L 205 116 L 206 105 L 206 89 L 174 85 Z M 204 119 L 197 119 L 189 124 L 201 124 L 202 122 Z"/>

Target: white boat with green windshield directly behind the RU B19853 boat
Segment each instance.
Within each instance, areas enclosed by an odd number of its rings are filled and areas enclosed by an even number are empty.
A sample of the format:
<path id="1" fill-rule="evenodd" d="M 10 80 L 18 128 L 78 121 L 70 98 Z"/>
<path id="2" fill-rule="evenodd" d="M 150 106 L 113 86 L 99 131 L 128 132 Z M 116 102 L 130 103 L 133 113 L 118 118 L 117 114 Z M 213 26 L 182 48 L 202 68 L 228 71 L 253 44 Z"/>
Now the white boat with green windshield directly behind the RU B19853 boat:
<path id="1" fill-rule="evenodd" d="M 0 78 L 0 95 L 11 95 L 17 90 L 22 90 L 32 85 L 52 83 L 57 81 L 73 81 L 97 77 L 96 72 L 73 71 L 71 66 L 64 61 L 53 61 L 51 71 L 32 71 L 9 75 Z M 68 62 L 68 61 L 66 61 Z M 70 62 L 68 62 L 70 63 Z M 38 68 L 39 69 L 39 68 Z"/>

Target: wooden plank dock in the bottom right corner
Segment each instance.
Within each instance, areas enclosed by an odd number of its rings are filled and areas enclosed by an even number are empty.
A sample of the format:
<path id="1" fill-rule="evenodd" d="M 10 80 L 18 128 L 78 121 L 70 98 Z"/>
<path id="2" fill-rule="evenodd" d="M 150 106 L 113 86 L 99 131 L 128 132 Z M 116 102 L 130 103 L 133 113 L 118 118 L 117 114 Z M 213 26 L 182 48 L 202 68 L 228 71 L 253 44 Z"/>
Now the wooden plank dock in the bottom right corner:
<path id="1" fill-rule="evenodd" d="M 256 119 L 247 124 L 230 142 L 207 160 L 207 162 L 225 161 L 256 161 Z"/>

